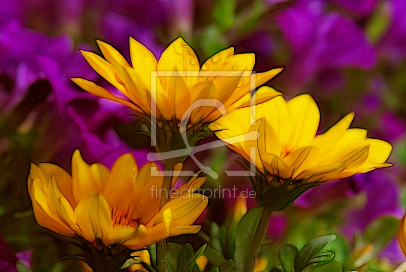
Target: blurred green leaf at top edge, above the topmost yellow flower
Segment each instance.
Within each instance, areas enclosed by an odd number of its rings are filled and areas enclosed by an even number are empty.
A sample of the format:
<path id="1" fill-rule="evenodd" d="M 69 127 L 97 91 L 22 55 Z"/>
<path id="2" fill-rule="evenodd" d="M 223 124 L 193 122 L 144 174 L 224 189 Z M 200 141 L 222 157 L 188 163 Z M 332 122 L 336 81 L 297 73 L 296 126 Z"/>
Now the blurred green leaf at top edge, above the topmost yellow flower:
<path id="1" fill-rule="evenodd" d="M 218 0 L 213 9 L 213 21 L 223 30 L 235 21 L 235 0 Z"/>

